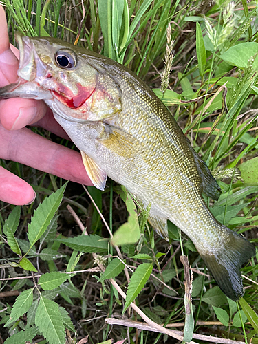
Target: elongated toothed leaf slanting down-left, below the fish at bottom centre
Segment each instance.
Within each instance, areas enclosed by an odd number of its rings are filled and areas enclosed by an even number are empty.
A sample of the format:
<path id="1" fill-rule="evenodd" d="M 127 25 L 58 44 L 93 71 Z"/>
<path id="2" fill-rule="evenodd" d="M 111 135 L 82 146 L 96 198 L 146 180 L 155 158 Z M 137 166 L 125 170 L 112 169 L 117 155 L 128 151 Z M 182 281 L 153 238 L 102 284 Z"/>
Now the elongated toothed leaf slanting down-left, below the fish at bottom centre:
<path id="1" fill-rule="evenodd" d="M 133 272 L 127 288 L 127 297 L 125 299 L 125 307 L 122 310 L 122 314 L 125 314 L 125 311 L 129 307 L 130 303 L 132 303 L 136 299 L 137 295 L 141 292 L 151 275 L 152 269 L 152 264 L 143 263 L 138 266 L 135 272 Z"/>

